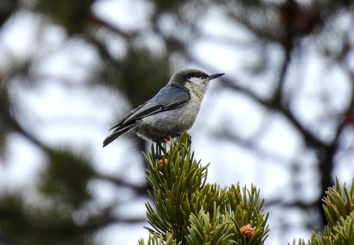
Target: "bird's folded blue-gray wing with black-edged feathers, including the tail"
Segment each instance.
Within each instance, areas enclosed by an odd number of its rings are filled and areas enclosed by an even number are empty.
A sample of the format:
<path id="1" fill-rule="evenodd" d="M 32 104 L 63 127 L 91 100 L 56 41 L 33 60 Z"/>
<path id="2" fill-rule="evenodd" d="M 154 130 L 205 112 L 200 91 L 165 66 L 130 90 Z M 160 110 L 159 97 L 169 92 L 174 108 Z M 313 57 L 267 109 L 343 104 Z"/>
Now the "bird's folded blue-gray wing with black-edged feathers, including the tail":
<path id="1" fill-rule="evenodd" d="M 111 127 L 109 130 L 114 128 L 116 128 L 116 130 L 104 140 L 103 147 L 128 131 L 136 120 L 166 110 L 176 109 L 189 100 L 190 95 L 187 90 L 174 85 L 166 85 L 152 99 L 132 110 L 116 125 Z"/>

